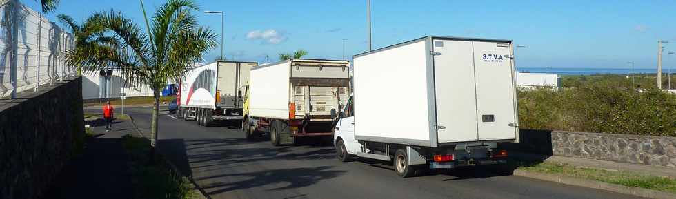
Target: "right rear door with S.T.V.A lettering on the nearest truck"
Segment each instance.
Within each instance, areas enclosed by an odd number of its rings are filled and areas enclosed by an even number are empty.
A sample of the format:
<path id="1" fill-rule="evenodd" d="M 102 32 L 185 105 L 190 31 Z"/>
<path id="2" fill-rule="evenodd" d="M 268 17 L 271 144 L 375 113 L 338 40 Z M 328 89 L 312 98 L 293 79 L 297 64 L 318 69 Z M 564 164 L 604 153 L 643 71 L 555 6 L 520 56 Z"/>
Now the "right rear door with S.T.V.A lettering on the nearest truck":
<path id="1" fill-rule="evenodd" d="M 479 140 L 516 138 L 510 43 L 473 42 Z"/>

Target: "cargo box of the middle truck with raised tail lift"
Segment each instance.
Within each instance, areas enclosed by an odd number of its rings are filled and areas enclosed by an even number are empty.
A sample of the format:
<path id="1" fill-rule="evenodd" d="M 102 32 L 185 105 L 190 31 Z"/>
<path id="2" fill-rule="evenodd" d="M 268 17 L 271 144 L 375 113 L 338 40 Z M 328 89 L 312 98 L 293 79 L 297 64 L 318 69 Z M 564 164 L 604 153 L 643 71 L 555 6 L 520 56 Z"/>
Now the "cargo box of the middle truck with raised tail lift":
<path id="1" fill-rule="evenodd" d="M 252 117 L 331 121 L 331 109 L 341 109 L 349 97 L 348 61 L 291 59 L 251 70 L 249 112 Z"/>

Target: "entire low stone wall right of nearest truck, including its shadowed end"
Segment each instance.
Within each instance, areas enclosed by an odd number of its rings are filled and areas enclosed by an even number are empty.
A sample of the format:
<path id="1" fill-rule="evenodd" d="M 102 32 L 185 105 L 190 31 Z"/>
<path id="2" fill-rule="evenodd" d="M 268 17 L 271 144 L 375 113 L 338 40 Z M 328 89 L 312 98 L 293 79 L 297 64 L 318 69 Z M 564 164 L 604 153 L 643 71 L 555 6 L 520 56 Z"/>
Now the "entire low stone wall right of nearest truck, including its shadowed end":
<path id="1" fill-rule="evenodd" d="M 546 156 L 566 156 L 676 167 L 676 137 L 521 129 L 521 143 L 499 147 Z"/>

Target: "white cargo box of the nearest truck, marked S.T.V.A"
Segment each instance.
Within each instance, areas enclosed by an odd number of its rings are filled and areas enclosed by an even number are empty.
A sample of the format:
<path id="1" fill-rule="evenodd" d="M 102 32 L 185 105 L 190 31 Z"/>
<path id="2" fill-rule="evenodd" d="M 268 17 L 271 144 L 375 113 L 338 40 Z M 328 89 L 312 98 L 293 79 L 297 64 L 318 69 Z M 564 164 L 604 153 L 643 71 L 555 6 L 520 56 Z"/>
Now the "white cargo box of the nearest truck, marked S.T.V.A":
<path id="1" fill-rule="evenodd" d="M 354 56 L 355 138 L 518 142 L 512 42 L 426 36 Z"/>

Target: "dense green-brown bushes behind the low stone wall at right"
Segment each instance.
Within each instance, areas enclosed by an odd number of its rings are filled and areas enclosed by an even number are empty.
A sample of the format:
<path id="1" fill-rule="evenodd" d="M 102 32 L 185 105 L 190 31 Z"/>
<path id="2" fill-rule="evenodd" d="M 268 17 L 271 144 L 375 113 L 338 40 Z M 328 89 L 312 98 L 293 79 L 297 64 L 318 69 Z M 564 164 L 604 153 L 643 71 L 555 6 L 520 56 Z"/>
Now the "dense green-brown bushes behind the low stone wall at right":
<path id="1" fill-rule="evenodd" d="M 646 78 L 637 78 L 644 90 L 630 89 L 626 77 L 612 75 L 564 76 L 558 91 L 519 90 L 519 126 L 676 136 L 676 95 L 650 87 Z"/>

